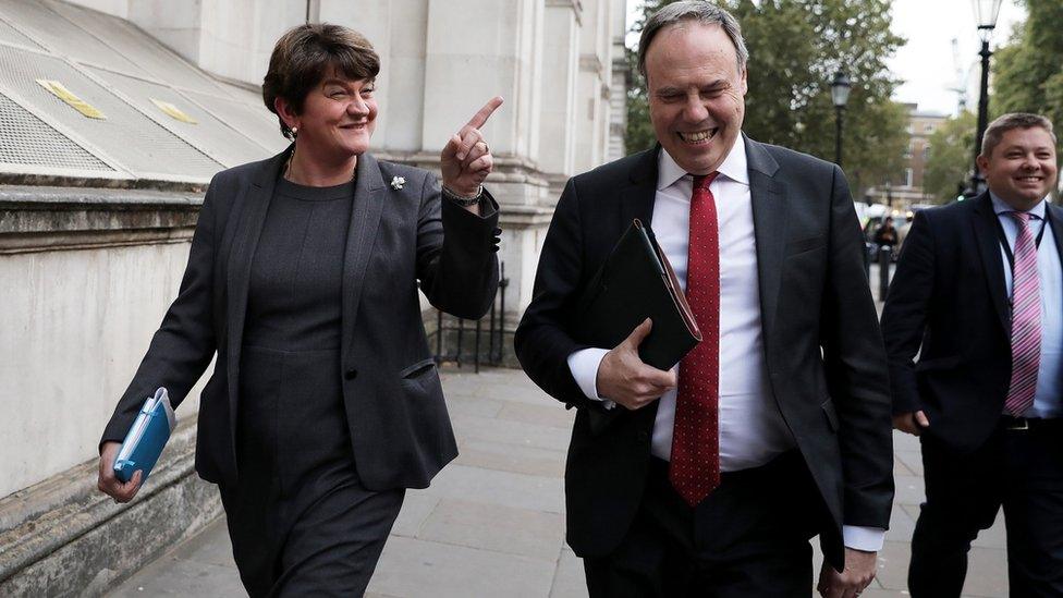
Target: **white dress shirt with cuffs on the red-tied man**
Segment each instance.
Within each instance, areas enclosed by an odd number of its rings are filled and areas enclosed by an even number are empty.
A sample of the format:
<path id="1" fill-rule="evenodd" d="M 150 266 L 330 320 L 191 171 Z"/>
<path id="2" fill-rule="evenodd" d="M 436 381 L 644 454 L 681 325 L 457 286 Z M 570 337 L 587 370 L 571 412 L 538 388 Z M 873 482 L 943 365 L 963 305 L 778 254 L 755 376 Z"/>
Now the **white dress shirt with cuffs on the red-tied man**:
<path id="1" fill-rule="evenodd" d="M 653 233 L 685 292 L 693 176 L 663 149 L 658 167 Z M 720 232 L 720 469 L 735 472 L 767 464 L 795 441 L 775 404 L 765 362 L 753 200 L 742 137 L 718 170 L 709 190 Z M 567 363 L 584 394 L 612 408 L 613 403 L 599 396 L 597 389 L 598 367 L 608 352 L 576 351 Z M 660 398 L 653 423 L 650 452 L 665 461 L 672 451 L 675 396 L 673 389 Z M 845 546 L 862 550 L 879 550 L 885 535 L 866 527 L 845 526 L 843 532 Z"/>

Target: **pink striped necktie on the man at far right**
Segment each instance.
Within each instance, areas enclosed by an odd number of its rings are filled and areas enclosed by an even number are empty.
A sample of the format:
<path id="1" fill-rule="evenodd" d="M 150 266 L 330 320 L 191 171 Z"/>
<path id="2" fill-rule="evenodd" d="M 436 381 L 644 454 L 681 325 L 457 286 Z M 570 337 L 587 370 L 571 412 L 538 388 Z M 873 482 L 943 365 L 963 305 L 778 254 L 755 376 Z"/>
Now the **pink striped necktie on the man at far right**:
<path id="1" fill-rule="evenodd" d="M 1030 215 L 1007 212 L 1018 224 L 1012 264 L 1012 380 L 1004 411 L 1022 416 L 1034 405 L 1037 369 L 1041 361 L 1041 293 L 1037 280 L 1037 244 Z"/>

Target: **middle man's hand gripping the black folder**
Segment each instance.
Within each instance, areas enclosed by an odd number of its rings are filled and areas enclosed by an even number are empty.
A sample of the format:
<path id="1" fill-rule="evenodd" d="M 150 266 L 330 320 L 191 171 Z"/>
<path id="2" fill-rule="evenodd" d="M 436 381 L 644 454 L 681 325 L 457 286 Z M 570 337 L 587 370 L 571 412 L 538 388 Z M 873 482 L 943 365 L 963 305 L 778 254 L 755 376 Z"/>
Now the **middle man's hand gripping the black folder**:
<path id="1" fill-rule="evenodd" d="M 675 369 L 657 369 L 638 356 L 638 345 L 649 334 L 653 322 L 643 320 L 632 333 L 606 353 L 598 366 L 598 392 L 628 410 L 638 410 L 675 388 Z"/>

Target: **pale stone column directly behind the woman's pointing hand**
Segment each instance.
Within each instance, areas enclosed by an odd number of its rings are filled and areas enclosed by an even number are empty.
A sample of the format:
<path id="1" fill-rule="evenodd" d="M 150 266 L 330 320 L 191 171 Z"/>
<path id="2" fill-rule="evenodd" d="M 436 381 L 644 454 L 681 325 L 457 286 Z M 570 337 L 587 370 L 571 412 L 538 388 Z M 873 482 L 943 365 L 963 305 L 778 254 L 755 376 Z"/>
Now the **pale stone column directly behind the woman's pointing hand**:
<path id="1" fill-rule="evenodd" d="M 505 103 L 484 127 L 496 157 L 487 184 L 502 205 L 506 330 L 532 300 L 541 237 L 549 223 L 547 180 L 538 158 L 542 89 L 558 84 L 541 69 L 542 0 L 429 0 L 425 57 L 424 164 L 492 96 Z M 509 340 L 506 340 L 509 344 Z"/>

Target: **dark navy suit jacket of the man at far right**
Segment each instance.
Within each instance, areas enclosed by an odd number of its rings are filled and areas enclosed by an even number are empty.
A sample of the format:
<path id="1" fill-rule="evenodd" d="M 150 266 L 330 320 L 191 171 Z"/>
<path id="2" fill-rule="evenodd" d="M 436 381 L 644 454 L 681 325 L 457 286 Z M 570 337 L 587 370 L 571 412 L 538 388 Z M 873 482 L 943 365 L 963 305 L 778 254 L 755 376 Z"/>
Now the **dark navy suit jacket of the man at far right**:
<path id="1" fill-rule="evenodd" d="M 1063 260 L 1063 208 L 1047 209 Z M 882 312 L 893 411 L 924 410 L 925 434 L 960 452 L 989 438 L 1011 382 L 1011 313 L 997 227 L 988 192 L 916 212 Z"/>

